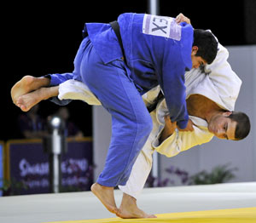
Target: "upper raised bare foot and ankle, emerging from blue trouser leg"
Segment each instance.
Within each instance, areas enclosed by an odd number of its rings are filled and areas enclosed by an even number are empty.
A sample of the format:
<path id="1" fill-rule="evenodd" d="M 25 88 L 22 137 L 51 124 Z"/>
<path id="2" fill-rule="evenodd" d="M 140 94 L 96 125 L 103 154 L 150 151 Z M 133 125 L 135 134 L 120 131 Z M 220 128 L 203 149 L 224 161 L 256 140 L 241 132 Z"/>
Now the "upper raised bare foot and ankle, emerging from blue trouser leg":
<path id="1" fill-rule="evenodd" d="M 21 95 L 27 94 L 42 87 L 48 87 L 49 83 L 50 80 L 46 77 L 22 77 L 21 80 L 15 83 L 14 87 L 11 89 L 12 100 L 16 105 L 17 100 Z"/>

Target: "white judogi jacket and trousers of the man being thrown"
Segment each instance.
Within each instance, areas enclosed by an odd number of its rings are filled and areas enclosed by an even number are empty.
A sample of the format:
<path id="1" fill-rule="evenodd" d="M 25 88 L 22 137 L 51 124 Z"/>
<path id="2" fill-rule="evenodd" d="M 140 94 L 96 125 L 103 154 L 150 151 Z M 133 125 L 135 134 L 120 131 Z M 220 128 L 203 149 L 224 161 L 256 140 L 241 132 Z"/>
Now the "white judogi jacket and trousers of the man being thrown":
<path id="1" fill-rule="evenodd" d="M 216 102 L 225 110 L 234 111 L 236 99 L 241 88 L 241 79 L 232 71 L 227 59 L 229 53 L 222 45 L 218 44 L 218 54 L 211 65 L 207 65 L 204 71 L 192 69 L 185 73 L 185 85 L 187 98 L 191 94 L 202 94 Z M 160 87 L 150 90 L 143 95 L 146 103 L 152 103 L 159 93 Z M 69 80 L 61 83 L 59 99 L 84 100 L 90 105 L 101 105 L 94 94 L 90 92 L 84 83 Z M 170 137 L 159 144 L 160 133 L 164 128 L 164 117 L 168 114 L 166 101 L 162 100 L 155 111 L 151 112 L 154 128 L 148 137 L 142 152 L 133 165 L 131 176 L 125 186 L 119 186 L 122 192 L 137 198 L 143 190 L 143 186 L 152 168 L 152 154 L 154 151 L 166 157 L 174 157 L 193 146 L 201 145 L 212 140 L 213 134 L 207 129 L 207 122 L 199 117 L 189 118 L 195 123 L 193 132 L 175 131 Z"/>

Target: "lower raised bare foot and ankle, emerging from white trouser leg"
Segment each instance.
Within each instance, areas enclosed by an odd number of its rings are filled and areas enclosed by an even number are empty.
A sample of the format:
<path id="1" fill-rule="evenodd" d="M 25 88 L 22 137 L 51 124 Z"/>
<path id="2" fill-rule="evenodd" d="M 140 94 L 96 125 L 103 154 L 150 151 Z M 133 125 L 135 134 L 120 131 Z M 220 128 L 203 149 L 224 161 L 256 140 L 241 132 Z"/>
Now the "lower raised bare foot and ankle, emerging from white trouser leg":
<path id="1" fill-rule="evenodd" d="M 23 94 L 16 100 L 16 106 L 22 111 L 29 111 L 32 106 L 37 105 L 41 100 L 47 100 L 59 94 L 59 86 L 41 88 L 31 93 Z"/>

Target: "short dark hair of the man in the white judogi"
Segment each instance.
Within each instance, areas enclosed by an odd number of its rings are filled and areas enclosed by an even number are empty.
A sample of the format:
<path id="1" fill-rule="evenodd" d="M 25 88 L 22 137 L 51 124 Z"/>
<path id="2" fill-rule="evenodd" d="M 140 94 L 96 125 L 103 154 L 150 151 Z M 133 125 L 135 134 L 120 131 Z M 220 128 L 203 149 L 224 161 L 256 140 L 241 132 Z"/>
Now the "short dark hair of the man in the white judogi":
<path id="1" fill-rule="evenodd" d="M 233 111 L 229 117 L 232 121 L 236 122 L 235 139 L 242 140 L 247 137 L 251 129 L 250 119 L 247 117 L 247 114 Z"/>

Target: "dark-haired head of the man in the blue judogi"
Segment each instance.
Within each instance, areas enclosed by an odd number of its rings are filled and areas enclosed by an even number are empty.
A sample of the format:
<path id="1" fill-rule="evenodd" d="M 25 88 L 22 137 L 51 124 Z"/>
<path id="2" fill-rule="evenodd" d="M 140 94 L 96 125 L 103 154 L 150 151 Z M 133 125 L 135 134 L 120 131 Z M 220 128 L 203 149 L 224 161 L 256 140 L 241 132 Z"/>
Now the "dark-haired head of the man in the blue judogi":
<path id="1" fill-rule="evenodd" d="M 194 30 L 194 43 L 192 46 L 191 60 L 193 68 L 201 65 L 212 64 L 218 51 L 218 42 L 210 31 Z"/>

